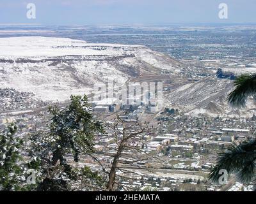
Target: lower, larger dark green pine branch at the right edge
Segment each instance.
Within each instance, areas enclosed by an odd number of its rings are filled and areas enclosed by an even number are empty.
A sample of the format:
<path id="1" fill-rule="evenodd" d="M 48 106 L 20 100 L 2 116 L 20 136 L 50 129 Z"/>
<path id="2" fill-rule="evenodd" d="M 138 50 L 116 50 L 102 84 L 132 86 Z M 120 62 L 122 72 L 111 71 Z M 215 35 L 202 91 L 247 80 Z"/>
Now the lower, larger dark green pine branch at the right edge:
<path id="1" fill-rule="evenodd" d="M 237 180 L 249 183 L 255 180 L 256 173 L 256 140 L 251 139 L 239 145 L 230 145 L 227 150 L 220 153 L 216 166 L 210 173 L 210 179 L 218 182 L 220 170 L 235 173 Z"/>

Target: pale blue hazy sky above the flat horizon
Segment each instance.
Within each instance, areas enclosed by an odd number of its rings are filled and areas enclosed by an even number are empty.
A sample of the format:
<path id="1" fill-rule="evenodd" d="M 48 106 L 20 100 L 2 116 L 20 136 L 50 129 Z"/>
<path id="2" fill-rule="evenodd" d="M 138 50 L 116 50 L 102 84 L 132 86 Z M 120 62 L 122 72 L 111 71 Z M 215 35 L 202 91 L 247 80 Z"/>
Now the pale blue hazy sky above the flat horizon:
<path id="1" fill-rule="evenodd" d="M 26 17 L 36 5 L 36 19 Z M 228 19 L 218 17 L 228 5 Z M 256 22 L 256 0 L 0 0 L 0 24 Z"/>

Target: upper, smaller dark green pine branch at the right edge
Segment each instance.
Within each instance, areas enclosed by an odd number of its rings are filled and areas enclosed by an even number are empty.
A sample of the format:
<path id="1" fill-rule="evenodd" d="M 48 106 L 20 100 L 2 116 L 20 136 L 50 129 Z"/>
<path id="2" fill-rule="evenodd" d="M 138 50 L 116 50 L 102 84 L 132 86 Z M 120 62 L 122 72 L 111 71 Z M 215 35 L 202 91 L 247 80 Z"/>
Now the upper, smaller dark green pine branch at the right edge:
<path id="1" fill-rule="evenodd" d="M 234 82 L 234 91 L 228 95 L 228 102 L 234 106 L 244 106 L 249 96 L 256 94 L 256 73 L 244 74 Z"/>

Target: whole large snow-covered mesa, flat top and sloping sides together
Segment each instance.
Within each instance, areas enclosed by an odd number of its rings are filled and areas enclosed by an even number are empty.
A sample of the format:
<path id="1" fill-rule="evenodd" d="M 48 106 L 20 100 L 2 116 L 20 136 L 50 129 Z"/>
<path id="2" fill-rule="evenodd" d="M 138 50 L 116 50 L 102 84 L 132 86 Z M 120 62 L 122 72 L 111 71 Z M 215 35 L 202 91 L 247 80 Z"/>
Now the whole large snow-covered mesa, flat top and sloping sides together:
<path id="1" fill-rule="evenodd" d="M 0 38 L 0 89 L 33 92 L 44 101 L 90 94 L 95 84 L 124 84 L 148 64 L 173 69 L 163 54 L 141 45 L 93 44 L 68 38 Z M 175 70 L 175 69 L 173 69 Z"/>

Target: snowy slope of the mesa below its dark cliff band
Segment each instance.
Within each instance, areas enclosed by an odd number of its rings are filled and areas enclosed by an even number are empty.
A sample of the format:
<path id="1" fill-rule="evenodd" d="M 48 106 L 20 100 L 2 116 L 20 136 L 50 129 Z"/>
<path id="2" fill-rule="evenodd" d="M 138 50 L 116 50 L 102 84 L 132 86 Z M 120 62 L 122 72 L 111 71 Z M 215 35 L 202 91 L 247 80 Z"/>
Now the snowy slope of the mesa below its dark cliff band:
<path id="1" fill-rule="evenodd" d="M 124 84 L 128 77 L 107 62 L 76 61 L 56 66 L 0 63 L 0 78 L 0 87 L 31 91 L 43 101 L 65 101 L 71 94 L 90 94 L 96 82 L 117 79 Z"/>

